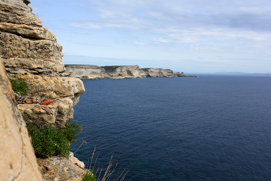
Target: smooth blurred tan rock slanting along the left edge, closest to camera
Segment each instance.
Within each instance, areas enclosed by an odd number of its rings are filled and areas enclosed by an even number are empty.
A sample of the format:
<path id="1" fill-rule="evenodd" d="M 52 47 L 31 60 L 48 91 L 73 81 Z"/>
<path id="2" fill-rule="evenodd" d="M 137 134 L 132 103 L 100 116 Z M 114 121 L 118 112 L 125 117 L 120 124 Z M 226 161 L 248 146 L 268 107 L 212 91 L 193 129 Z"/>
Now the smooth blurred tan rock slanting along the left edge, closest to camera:
<path id="1" fill-rule="evenodd" d="M 42 181 L 26 125 L 0 58 L 0 178 Z"/>

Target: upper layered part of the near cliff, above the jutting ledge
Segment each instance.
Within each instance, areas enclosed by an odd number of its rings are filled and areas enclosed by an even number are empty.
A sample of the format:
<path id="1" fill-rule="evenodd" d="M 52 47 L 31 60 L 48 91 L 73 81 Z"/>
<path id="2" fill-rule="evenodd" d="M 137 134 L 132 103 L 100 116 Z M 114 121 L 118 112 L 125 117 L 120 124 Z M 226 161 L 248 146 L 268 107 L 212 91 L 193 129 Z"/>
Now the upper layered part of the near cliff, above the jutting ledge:
<path id="1" fill-rule="evenodd" d="M 0 46 L 8 73 L 64 72 L 62 46 L 32 13 L 28 0 L 0 0 Z"/>

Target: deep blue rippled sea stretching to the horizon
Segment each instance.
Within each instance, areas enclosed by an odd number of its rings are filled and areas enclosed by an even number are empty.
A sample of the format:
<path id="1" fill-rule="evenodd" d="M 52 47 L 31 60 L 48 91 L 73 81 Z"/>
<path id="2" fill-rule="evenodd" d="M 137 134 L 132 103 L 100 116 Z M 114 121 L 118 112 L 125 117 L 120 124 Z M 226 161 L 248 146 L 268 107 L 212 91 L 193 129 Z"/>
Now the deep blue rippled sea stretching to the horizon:
<path id="1" fill-rule="evenodd" d="M 126 181 L 271 180 L 271 76 L 83 80 L 71 145 Z M 95 160 L 93 158 L 93 160 Z M 93 163 L 92 163 L 93 166 Z"/>

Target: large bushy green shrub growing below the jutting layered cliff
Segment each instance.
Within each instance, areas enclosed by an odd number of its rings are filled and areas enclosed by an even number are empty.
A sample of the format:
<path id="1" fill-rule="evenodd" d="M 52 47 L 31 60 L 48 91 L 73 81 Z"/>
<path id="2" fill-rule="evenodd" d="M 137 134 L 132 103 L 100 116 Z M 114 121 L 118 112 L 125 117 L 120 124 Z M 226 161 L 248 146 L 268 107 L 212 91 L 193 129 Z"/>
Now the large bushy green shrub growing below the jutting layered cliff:
<path id="1" fill-rule="evenodd" d="M 32 137 L 32 145 L 36 157 L 51 157 L 62 154 L 69 157 L 70 144 L 76 141 L 75 134 L 82 131 L 80 125 L 75 122 L 66 123 L 63 129 L 55 129 L 51 125 L 38 127 L 24 118 L 26 127 Z"/>

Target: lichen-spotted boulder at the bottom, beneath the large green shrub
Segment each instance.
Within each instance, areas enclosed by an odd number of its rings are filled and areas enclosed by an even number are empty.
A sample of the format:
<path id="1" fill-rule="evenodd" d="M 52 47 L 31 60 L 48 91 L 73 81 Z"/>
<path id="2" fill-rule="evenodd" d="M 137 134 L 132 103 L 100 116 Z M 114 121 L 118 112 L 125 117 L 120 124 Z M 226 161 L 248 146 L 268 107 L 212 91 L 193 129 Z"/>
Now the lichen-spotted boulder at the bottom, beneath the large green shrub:
<path id="1" fill-rule="evenodd" d="M 80 181 L 86 170 L 65 157 L 37 159 L 43 181 Z"/>

